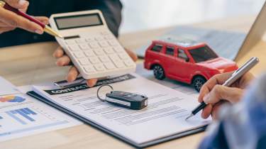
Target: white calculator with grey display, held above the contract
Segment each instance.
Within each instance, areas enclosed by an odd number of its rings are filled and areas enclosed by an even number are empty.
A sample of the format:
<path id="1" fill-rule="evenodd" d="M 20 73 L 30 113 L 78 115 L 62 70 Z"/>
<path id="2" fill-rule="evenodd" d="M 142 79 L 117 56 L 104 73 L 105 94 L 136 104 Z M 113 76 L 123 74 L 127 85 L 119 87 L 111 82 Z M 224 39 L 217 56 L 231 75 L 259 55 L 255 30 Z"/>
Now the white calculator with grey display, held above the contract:
<path id="1" fill-rule="evenodd" d="M 135 62 L 109 31 L 101 11 L 57 13 L 50 26 L 84 79 L 123 75 L 135 71 Z"/>

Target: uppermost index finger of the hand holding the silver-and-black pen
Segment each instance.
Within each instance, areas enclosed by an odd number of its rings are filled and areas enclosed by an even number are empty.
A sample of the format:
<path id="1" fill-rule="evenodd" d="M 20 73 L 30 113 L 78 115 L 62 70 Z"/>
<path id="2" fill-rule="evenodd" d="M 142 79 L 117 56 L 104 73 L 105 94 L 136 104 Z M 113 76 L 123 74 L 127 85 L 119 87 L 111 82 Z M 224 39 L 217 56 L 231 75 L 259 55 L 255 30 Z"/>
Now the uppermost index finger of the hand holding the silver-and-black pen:
<path id="1" fill-rule="evenodd" d="M 226 82 L 226 80 L 231 77 L 233 72 L 227 72 L 227 73 L 223 73 L 223 74 L 219 74 L 219 75 L 214 75 L 214 77 L 211 77 L 211 79 L 209 79 L 202 87 L 201 90 L 199 91 L 199 97 L 198 97 L 198 101 L 202 102 L 203 98 L 206 94 L 208 94 L 212 88 L 214 88 L 214 86 L 216 84 L 223 84 L 224 82 Z"/>

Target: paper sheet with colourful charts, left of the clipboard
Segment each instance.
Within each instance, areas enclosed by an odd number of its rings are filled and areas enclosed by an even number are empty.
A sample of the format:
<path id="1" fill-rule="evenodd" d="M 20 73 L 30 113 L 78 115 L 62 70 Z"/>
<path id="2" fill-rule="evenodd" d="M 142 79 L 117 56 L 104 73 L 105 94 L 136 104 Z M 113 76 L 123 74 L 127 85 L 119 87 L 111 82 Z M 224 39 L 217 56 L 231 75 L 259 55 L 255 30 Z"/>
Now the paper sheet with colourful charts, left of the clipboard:
<path id="1" fill-rule="evenodd" d="M 31 87 L 20 87 L 25 92 Z M 23 93 L 0 96 L 0 142 L 82 124 Z"/>

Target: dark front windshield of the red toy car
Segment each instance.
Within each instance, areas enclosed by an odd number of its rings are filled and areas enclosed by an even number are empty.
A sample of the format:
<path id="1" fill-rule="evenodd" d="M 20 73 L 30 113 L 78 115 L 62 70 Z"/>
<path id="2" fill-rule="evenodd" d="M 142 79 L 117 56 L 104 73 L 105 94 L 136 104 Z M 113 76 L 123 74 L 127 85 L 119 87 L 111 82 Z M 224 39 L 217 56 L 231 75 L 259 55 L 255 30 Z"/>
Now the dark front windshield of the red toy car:
<path id="1" fill-rule="evenodd" d="M 192 55 L 195 62 L 204 62 L 218 57 L 208 46 L 189 50 L 189 53 Z"/>

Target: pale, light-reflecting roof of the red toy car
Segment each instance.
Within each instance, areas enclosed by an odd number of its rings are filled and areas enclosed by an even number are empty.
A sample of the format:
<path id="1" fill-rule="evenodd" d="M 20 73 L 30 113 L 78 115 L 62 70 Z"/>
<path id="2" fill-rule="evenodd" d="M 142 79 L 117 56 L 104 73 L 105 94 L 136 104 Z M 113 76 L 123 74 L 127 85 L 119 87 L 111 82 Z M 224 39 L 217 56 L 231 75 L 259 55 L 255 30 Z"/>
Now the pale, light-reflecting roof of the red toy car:
<path id="1" fill-rule="evenodd" d="M 167 37 L 167 38 L 162 38 L 160 40 L 154 40 L 155 42 L 163 42 L 163 43 L 170 43 L 170 44 L 174 44 L 174 45 L 178 45 L 181 47 L 191 47 L 194 45 L 205 45 L 205 43 L 199 43 L 196 42 L 195 40 L 189 40 L 189 39 L 177 39 L 177 38 L 171 38 L 171 37 Z"/>

